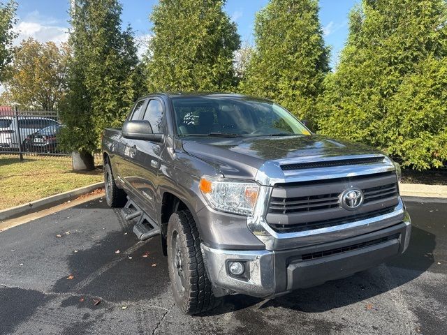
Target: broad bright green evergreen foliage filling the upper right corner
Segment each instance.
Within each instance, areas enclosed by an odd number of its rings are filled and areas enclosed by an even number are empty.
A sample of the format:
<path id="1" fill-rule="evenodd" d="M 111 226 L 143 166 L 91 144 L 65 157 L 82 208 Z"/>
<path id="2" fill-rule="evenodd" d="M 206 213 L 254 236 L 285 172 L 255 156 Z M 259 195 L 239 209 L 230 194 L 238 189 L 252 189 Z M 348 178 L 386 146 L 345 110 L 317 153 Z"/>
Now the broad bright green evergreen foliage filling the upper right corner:
<path id="1" fill-rule="evenodd" d="M 325 80 L 321 132 L 423 170 L 447 161 L 447 3 L 363 0 Z"/>

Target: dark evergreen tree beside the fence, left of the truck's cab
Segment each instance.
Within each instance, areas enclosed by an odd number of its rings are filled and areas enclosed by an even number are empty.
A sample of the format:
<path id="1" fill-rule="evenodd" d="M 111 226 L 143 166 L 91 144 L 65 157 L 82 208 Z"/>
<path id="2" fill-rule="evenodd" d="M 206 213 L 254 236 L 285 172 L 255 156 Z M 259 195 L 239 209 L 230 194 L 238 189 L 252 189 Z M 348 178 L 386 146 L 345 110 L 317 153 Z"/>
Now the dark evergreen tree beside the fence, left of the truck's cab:
<path id="1" fill-rule="evenodd" d="M 131 29 L 121 29 L 121 13 L 117 0 L 76 0 L 71 10 L 62 140 L 90 162 L 103 128 L 121 126 L 141 94 L 137 48 Z"/>

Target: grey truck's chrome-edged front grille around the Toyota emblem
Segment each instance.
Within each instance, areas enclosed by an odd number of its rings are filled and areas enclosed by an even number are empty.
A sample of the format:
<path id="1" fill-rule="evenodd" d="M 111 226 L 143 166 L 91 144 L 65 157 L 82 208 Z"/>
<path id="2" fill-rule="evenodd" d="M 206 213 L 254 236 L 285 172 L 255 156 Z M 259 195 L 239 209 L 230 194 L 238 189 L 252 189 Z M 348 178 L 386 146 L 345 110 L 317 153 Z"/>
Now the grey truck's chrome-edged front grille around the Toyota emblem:
<path id="1" fill-rule="evenodd" d="M 340 195 L 349 188 L 362 190 L 365 197 L 355 211 L 340 205 Z M 398 202 L 395 172 L 282 184 L 273 188 L 266 221 L 278 232 L 312 230 L 378 216 Z"/>

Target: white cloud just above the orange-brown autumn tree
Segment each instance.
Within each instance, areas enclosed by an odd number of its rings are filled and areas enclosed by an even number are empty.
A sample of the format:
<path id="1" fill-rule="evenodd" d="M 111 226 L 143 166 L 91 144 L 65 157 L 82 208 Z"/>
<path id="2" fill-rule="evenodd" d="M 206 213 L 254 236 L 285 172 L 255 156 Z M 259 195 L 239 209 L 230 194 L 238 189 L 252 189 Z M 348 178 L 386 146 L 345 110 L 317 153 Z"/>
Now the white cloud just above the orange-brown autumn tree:
<path id="1" fill-rule="evenodd" d="M 14 30 L 19 34 L 14 41 L 15 45 L 19 45 L 22 40 L 29 37 L 43 43 L 52 41 L 60 44 L 68 40 L 67 27 L 52 17 L 43 17 L 38 11 L 29 13 L 24 20 L 19 20 Z"/>

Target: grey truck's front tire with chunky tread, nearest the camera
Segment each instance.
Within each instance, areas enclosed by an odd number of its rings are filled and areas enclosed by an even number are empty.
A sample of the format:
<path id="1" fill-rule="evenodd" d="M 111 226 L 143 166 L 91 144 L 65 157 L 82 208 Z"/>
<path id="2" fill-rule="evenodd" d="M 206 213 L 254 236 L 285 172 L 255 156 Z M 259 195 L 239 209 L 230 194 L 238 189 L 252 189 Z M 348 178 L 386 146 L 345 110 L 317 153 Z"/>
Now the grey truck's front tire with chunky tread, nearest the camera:
<path id="1" fill-rule="evenodd" d="M 177 211 L 168 223 L 168 269 L 175 304 L 189 315 L 219 306 L 203 263 L 200 237 L 189 211 Z"/>

